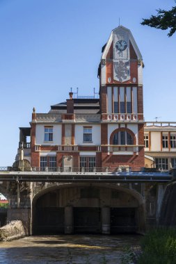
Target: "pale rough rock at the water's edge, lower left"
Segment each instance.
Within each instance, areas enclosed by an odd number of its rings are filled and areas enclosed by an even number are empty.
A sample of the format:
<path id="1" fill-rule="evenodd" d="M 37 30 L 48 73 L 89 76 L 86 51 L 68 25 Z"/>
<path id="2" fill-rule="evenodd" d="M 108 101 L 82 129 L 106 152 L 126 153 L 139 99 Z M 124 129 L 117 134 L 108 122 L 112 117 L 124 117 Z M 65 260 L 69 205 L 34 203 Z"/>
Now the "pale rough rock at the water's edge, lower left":
<path id="1" fill-rule="evenodd" d="M 12 221 L 9 224 L 6 224 L 6 226 L 2 226 L 0 228 L 0 240 L 1 241 L 8 241 L 8 240 L 14 240 L 17 238 L 24 238 L 25 232 L 24 232 L 24 226 L 22 224 L 22 221 Z"/>

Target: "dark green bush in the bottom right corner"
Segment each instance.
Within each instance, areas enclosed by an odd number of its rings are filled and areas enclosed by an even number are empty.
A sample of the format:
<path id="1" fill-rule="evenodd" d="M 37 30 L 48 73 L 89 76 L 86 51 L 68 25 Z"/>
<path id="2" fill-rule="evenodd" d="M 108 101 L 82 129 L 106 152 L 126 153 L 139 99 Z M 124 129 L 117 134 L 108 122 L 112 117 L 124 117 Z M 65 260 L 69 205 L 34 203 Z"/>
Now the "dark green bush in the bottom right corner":
<path id="1" fill-rule="evenodd" d="M 175 264 L 176 229 L 157 228 L 146 233 L 141 240 L 138 264 Z"/>

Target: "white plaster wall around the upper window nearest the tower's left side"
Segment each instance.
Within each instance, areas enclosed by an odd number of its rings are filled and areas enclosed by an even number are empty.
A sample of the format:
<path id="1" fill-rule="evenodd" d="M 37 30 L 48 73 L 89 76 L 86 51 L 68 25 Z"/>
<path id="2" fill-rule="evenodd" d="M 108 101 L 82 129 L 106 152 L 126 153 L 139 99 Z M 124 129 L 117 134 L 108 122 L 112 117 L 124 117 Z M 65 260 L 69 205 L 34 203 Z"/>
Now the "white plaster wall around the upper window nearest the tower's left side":
<path id="1" fill-rule="evenodd" d="M 92 126 L 92 138 L 93 142 L 83 142 L 83 126 L 82 124 L 75 124 L 74 130 L 74 142 L 75 145 L 101 145 L 101 125 L 100 124 L 89 124 Z"/>

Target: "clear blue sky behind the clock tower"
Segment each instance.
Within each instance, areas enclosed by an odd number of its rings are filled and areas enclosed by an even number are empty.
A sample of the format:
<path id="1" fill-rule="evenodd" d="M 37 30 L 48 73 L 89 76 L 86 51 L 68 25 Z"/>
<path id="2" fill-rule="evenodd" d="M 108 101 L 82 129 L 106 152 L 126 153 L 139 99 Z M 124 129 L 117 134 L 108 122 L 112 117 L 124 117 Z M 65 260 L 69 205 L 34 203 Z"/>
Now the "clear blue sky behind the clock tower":
<path id="1" fill-rule="evenodd" d="M 12 165 L 19 126 L 29 126 L 33 106 L 47 113 L 68 98 L 99 90 L 102 46 L 120 24 L 131 30 L 143 55 L 145 120 L 176 121 L 175 40 L 141 26 L 173 0 L 0 0 L 1 163 Z"/>

